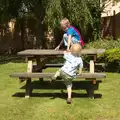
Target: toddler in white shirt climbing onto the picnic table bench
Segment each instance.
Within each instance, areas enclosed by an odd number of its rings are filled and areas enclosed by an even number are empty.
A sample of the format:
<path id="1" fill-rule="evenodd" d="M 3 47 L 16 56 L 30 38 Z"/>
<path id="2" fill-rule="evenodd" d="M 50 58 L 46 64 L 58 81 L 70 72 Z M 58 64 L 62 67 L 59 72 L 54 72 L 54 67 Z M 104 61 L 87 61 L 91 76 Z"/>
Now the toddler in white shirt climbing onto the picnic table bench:
<path id="1" fill-rule="evenodd" d="M 67 87 L 68 98 L 67 103 L 71 104 L 71 93 L 72 93 L 72 80 L 77 75 L 77 69 L 79 69 L 79 74 L 82 72 L 83 61 L 80 57 L 82 47 L 80 44 L 73 44 L 70 48 L 70 51 L 64 52 L 65 64 L 59 69 L 53 76 L 53 80 L 56 80 L 57 77 L 60 77 L 64 80 L 64 84 Z"/>

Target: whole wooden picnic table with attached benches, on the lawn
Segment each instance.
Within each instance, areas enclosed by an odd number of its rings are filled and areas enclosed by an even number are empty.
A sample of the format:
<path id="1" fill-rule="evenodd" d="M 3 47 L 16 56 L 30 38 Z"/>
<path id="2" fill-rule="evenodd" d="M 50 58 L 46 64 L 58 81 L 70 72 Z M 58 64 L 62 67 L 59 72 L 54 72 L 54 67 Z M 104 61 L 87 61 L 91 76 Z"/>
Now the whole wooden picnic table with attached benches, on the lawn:
<path id="1" fill-rule="evenodd" d="M 96 57 L 98 54 L 104 53 L 104 49 L 83 49 L 82 55 L 91 56 L 90 59 L 90 67 L 88 73 L 82 73 L 78 75 L 78 79 L 86 79 L 92 82 L 91 87 L 87 87 L 86 91 L 88 97 L 94 98 L 94 90 L 95 86 L 98 85 L 98 79 L 105 78 L 106 75 L 104 73 L 95 73 L 94 72 L 94 63 L 96 61 Z M 43 73 L 42 70 L 47 67 L 61 67 L 63 64 L 47 64 L 50 60 L 56 59 L 59 56 L 63 56 L 63 51 L 55 51 L 55 50 L 40 50 L 40 49 L 29 49 L 25 51 L 18 52 L 18 55 L 24 56 L 27 58 L 27 72 L 23 73 L 12 73 L 11 77 L 17 77 L 20 81 L 26 80 L 26 91 L 25 91 L 25 98 L 29 98 L 32 94 L 31 88 L 31 80 L 32 78 L 49 78 L 51 79 L 54 73 Z M 36 65 L 33 64 L 33 61 L 36 61 Z"/>

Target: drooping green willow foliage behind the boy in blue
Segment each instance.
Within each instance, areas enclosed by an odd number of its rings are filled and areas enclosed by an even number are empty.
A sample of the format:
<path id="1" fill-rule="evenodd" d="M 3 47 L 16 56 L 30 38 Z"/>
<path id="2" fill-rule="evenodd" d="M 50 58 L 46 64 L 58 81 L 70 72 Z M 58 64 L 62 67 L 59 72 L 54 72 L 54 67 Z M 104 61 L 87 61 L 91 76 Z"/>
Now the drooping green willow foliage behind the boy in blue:
<path id="1" fill-rule="evenodd" d="M 92 39 L 96 39 L 100 33 L 100 16 L 99 0 L 50 0 L 44 21 L 54 28 L 59 26 L 61 18 L 67 17 L 82 35 L 90 31 Z"/>

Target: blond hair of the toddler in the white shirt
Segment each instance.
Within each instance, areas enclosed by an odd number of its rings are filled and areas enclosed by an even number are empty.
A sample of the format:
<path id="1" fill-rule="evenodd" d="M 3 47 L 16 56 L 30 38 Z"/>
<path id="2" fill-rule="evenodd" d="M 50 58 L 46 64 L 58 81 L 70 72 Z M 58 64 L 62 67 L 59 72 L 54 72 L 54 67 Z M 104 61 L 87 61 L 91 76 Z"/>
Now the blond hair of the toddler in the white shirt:
<path id="1" fill-rule="evenodd" d="M 73 44 L 70 48 L 71 54 L 74 56 L 80 56 L 82 51 L 82 46 L 80 44 Z"/>

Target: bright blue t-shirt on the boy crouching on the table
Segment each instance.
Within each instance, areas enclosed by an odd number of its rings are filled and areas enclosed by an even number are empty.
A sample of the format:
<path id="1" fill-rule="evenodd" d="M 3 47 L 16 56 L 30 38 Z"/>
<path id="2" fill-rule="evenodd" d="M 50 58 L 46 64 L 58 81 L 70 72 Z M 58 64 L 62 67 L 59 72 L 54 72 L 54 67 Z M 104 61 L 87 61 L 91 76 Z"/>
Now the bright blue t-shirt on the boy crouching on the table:
<path id="1" fill-rule="evenodd" d="M 77 40 L 80 40 L 79 33 L 77 33 L 77 31 L 73 27 L 69 27 L 66 31 L 66 34 L 75 37 Z"/>

